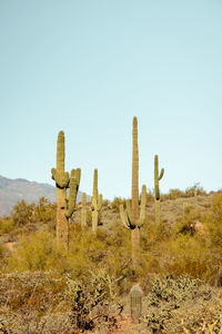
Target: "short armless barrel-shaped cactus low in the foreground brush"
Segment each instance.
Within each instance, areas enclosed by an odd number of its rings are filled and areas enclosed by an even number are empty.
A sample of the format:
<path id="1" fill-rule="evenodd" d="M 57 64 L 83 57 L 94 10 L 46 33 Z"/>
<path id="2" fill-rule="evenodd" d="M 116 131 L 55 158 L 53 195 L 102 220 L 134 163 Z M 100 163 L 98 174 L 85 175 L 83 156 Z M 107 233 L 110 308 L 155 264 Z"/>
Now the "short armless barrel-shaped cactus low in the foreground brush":
<path id="1" fill-rule="evenodd" d="M 130 291 L 130 311 L 133 322 L 139 322 L 142 316 L 142 289 L 139 284 L 132 286 Z"/>

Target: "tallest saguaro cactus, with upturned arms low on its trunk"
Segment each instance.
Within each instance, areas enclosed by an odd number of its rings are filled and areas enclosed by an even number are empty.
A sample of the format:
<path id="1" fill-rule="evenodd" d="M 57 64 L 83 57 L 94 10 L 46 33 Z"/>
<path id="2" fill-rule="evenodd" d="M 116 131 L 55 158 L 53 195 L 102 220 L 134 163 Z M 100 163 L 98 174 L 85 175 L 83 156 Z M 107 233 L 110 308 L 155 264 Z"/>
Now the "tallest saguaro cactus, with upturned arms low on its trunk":
<path id="1" fill-rule="evenodd" d="M 132 200 L 127 200 L 127 208 L 120 206 L 123 225 L 131 229 L 132 261 L 137 264 L 140 249 L 140 228 L 145 219 L 147 187 L 142 186 L 141 204 L 139 205 L 139 151 L 138 151 L 138 119 L 133 117 L 132 128 Z"/>

